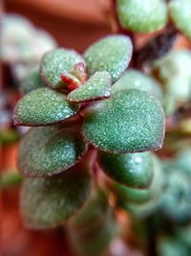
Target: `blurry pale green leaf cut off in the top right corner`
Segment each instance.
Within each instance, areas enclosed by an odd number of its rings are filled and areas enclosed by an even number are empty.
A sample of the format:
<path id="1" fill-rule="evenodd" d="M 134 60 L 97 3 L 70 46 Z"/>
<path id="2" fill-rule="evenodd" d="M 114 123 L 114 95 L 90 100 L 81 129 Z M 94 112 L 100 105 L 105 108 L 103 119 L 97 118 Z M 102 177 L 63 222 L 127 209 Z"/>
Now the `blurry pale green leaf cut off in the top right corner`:
<path id="1" fill-rule="evenodd" d="M 174 0 L 169 3 L 169 11 L 172 20 L 178 29 L 191 38 L 191 1 Z"/>

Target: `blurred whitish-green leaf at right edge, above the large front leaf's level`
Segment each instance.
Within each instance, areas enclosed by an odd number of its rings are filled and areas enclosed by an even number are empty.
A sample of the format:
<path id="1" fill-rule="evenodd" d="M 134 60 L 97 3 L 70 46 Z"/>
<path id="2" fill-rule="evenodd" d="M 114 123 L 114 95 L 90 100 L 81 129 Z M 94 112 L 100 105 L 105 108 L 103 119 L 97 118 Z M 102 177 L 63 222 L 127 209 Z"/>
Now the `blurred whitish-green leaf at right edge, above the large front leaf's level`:
<path id="1" fill-rule="evenodd" d="M 191 99 L 190 65 L 191 52 L 187 50 L 171 51 L 153 64 L 154 75 L 163 83 L 167 94 L 179 102 Z"/>

